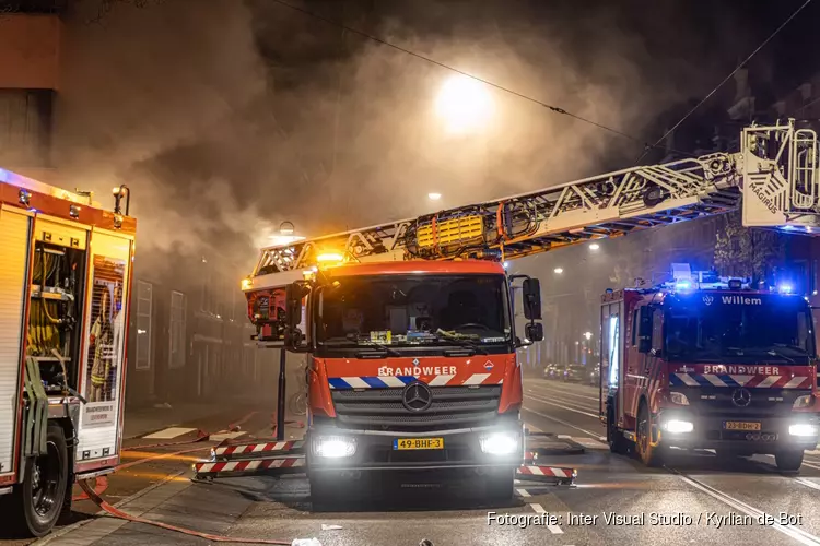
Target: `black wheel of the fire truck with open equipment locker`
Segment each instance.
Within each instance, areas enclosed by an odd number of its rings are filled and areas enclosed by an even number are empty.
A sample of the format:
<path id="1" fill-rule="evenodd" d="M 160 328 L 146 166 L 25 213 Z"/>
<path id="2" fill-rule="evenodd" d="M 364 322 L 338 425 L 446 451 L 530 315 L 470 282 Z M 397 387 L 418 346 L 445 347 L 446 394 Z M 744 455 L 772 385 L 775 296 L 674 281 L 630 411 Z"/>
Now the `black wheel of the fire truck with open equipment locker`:
<path id="1" fill-rule="evenodd" d="M 68 488 L 68 448 L 62 428 L 49 424 L 47 453 L 25 461 L 23 483 L 11 501 L 13 531 L 19 535 L 43 536 L 57 523 L 66 506 Z"/>

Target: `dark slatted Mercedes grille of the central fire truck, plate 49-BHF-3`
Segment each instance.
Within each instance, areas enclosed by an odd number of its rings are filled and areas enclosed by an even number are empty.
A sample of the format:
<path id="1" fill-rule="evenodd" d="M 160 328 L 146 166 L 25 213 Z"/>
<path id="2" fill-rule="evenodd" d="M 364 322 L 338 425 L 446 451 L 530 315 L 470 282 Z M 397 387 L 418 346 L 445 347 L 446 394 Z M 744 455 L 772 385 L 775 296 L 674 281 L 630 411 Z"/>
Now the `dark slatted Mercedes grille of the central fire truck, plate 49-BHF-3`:
<path id="1" fill-rule="evenodd" d="M 468 427 L 492 420 L 499 412 L 501 385 L 431 387 L 432 405 L 409 412 L 401 403 L 403 389 L 332 391 L 340 426 L 382 430 Z"/>

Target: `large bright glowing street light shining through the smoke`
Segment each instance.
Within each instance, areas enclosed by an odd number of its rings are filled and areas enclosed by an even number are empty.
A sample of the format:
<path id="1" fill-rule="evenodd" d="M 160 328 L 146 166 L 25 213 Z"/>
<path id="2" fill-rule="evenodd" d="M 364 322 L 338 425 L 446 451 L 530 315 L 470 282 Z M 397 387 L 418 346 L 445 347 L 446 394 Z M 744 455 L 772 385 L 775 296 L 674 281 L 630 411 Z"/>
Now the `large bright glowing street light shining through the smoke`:
<path id="1" fill-rule="evenodd" d="M 456 74 L 442 85 L 435 109 L 449 132 L 464 134 L 488 122 L 493 111 L 493 100 L 483 83 Z"/>

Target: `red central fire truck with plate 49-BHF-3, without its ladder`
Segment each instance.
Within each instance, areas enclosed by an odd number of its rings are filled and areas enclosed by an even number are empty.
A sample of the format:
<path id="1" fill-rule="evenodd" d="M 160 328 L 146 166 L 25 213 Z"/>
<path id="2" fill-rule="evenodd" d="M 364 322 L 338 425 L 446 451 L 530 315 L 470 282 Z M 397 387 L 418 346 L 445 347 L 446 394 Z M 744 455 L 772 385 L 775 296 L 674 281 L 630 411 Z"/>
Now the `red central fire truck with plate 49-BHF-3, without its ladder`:
<path id="1" fill-rule="evenodd" d="M 284 304 L 289 348 L 312 354 L 314 503 L 344 494 L 347 478 L 386 472 L 479 476 L 488 497 L 512 497 L 524 455 L 515 349 L 543 336 L 532 321 L 516 337 L 514 280 L 497 261 L 319 260 L 284 290 L 251 296 L 257 321 L 269 301 Z M 538 281 L 525 278 L 523 294 L 526 317 L 540 319 Z"/>

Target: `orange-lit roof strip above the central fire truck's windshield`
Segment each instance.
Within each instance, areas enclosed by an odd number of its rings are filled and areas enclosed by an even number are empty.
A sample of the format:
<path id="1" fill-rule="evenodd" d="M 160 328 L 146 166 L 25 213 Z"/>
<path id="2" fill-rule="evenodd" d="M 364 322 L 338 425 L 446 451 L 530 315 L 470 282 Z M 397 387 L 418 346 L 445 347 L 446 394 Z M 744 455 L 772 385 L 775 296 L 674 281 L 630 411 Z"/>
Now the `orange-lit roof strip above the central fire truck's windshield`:
<path id="1" fill-rule="evenodd" d="M 329 268 L 330 276 L 419 274 L 503 275 L 501 263 L 487 260 L 410 260 L 395 262 L 351 263 Z"/>

